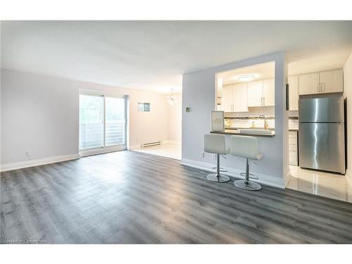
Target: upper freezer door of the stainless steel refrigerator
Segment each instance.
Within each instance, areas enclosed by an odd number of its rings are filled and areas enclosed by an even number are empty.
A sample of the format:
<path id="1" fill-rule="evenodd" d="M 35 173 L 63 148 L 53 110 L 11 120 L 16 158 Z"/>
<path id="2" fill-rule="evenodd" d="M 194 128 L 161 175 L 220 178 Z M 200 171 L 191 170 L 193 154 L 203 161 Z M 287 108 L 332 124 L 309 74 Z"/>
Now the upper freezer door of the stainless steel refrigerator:
<path id="1" fill-rule="evenodd" d="M 344 98 L 299 99 L 299 122 L 344 122 Z"/>

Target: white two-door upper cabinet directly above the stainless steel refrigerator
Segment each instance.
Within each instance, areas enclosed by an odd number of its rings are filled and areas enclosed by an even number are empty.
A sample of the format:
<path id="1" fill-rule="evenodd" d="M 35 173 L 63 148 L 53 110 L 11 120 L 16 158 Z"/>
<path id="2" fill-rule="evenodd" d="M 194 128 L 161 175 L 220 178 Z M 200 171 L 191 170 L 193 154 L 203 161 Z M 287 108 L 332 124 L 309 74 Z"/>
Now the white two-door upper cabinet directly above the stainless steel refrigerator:
<path id="1" fill-rule="evenodd" d="M 341 69 L 299 75 L 299 94 L 325 94 L 343 91 Z"/>

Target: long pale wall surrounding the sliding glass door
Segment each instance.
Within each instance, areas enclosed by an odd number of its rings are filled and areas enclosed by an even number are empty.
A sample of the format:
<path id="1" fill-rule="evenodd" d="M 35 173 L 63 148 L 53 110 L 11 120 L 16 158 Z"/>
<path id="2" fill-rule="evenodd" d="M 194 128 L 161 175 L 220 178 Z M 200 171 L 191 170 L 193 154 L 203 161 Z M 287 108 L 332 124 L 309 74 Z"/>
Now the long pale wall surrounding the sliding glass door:
<path id="1" fill-rule="evenodd" d="M 130 146 L 168 139 L 165 95 L 1 69 L 1 165 L 77 154 L 79 89 L 130 96 Z"/>

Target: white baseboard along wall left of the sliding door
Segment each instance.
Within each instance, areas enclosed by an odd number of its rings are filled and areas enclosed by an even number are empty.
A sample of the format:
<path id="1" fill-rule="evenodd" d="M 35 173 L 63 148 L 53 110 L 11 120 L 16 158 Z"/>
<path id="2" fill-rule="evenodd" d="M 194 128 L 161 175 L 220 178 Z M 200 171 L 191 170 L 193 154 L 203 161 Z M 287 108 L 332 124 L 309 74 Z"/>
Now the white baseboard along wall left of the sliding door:
<path id="1" fill-rule="evenodd" d="M 50 164 L 50 163 L 57 163 L 61 161 L 70 161 L 70 160 L 75 160 L 77 158 L 80 158 L 80 154 L 70 154 L 70 155 L 63 155 L 63 156 L 55 156 L 55 157 L 50 157 L 50 158 L 39 158 L 36 160 L 30 160 L 30 161 L 21 161 L 17 163 L 8 163 L 1 165 L 1 172 L 8 171 L 8 170 L 18 170 L 18 169 L 23 169 L 23 168 L 30 168 L 34 166 L 39 166 L 39 165 L 45 165 L 45 164 Z"/>

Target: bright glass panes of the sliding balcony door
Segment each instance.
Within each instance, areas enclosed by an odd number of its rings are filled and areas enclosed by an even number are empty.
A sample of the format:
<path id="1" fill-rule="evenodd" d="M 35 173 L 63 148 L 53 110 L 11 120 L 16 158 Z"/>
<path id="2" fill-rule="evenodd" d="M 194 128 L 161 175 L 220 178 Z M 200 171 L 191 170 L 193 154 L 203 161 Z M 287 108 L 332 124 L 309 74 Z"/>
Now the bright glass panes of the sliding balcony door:
<path id="1" fill-rule="evenodd" d="M 80 94 L 80 151 L 126 146 L 125 97 Z"/>

